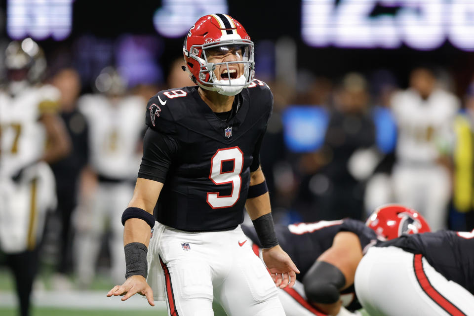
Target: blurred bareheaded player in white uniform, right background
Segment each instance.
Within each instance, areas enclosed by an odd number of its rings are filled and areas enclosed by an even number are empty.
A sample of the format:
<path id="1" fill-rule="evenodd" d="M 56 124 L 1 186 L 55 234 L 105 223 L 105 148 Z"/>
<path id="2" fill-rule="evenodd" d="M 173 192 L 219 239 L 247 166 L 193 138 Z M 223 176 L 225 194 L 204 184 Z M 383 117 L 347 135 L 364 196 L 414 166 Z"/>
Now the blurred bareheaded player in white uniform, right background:
<path id="1" fill-rule="evenodd" d="M 397 202 L 417 209 L 433 230 L 444 228 L 450 198 L 446 167 L 453 144 L 453 122 L 460 101 L 436 86 L 434 74 L 415 69 L 410 88 L 397 92 L 392 109 L 398 125 L 393 172 Z"/>

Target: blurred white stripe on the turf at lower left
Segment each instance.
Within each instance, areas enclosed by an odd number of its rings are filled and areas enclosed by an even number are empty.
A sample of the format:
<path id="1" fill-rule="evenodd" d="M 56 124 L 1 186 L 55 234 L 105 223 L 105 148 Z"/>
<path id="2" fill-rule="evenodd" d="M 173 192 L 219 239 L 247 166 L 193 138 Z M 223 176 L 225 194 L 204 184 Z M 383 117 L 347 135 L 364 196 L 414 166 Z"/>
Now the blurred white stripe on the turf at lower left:
<path id="1" fill-rule="evenodd" d="M 155 307 L 141 295 L 134 295 L 125 302 L 118 297 L 106 297 L 106 291 L 35 291 L 33 305 L 37 307 L 53 307 L 84 310 L 155 310 L 166 311 L 166 303 L 155 301 Z M 0 291 L 0 307 L 15 307 L 16 295 L 12 292 Z"/>

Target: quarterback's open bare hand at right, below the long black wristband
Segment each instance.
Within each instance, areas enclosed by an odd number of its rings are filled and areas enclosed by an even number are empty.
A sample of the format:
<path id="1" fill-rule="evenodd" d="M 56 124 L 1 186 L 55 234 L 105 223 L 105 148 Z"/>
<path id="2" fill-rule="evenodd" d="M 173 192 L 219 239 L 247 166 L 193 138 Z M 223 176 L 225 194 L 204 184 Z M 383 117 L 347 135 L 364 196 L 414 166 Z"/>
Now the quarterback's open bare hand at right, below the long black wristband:
<path id="1" fill-rule="evenodd" d="M 296 274 L 300 271 L 296 268 L 290 256 L 279 245 L 270 249 L 263 249 L 262 256 L 276 286 L 279 288 L 285 288 L 287 285 L 293 287 Z"/>

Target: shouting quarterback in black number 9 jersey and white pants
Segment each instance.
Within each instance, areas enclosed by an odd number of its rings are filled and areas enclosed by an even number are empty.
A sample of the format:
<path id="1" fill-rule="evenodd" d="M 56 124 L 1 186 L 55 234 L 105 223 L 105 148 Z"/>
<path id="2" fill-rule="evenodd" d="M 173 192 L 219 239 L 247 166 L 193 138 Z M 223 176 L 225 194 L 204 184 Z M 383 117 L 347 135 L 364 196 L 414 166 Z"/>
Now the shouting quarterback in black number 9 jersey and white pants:
<path id="1" fill-rule="evenodd" d="M 292 286 L 299 271 L 278 245 L 259 162 L 272 93 L 253 79 L 253 43 L 228 15 L 197 20 L 183 51 L 197 86 L 148 103 L 142 164 L 122 215 L 126 281 L 107 296 L 166 300 L 169 315 L 211 316 L 215 299 L 228 315 L 283 316 L 276 286 Z M 245 243 L 244 206 L 276 286 Z"/>

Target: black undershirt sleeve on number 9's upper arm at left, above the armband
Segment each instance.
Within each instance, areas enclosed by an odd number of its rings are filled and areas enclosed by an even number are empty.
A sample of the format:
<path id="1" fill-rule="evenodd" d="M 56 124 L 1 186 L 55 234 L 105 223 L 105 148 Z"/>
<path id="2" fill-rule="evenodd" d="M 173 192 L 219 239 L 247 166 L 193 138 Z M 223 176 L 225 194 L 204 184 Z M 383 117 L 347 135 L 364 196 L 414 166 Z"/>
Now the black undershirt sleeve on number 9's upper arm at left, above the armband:
<path id="1" fill-rule="evenodd" d="M 148 128 L 143 140 L 143 158 L 138 177 L 164 183 L 177 151 L 178 142 L 173 136 Z"/>

